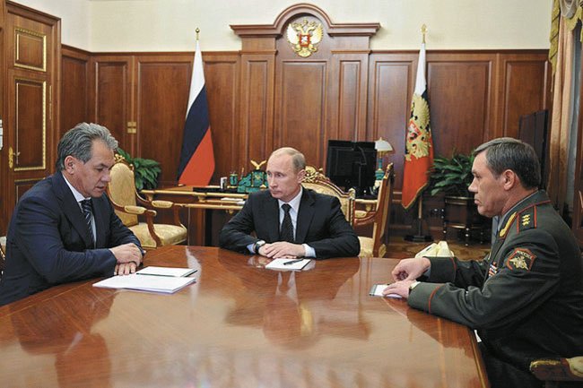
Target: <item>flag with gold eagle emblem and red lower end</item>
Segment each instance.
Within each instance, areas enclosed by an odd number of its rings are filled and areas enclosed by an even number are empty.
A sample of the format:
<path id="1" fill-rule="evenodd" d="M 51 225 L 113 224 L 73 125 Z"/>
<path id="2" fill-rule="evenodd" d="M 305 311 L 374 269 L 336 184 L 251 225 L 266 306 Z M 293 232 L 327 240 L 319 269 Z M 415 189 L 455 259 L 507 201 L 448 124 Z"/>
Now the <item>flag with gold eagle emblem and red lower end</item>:
<path id="1" fill-rule="evenodd" d="M 425 43 L 419 51 L 417 80 L 411 101 L 411 118 L 405 134 L 405 168 L 401 204 L 409 209 L 429 184 L 429 171 L 433 165 L 433 140 L 431 139 L 430 109 L 425 82 Z"/>

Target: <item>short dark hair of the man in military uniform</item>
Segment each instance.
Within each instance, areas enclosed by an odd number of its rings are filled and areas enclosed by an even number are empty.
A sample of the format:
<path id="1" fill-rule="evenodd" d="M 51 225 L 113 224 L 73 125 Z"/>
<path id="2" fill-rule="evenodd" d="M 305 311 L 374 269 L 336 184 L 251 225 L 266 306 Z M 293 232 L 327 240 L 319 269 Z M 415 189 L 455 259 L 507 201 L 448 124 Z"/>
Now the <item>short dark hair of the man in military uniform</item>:
<path id="1" fill-rule="evenodd" d="M 526 142 L 500 137 L 478 146 L 474 155 L 482 151 L 486 151 L 486 162 L 494 177 L 500 177 L 504 170 L 511 169 L 524 188 L 537 188 L 541 184 L 541 165 L 535 150 Z"/>

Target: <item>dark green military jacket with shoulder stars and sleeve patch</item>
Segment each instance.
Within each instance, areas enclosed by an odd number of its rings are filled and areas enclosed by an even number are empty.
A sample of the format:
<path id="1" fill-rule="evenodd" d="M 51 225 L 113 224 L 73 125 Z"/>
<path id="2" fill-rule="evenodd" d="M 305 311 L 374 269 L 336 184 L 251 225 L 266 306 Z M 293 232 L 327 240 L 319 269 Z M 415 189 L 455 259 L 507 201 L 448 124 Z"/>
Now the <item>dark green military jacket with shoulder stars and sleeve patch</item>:
<path id="1" fill-rule="evenodd" d="M 583 261 L 570 228 L 544 191 L 500 223 L 482 262 L 431 259 L 409 305 L 477 329 L 503 361 L 583 354 Z"/>

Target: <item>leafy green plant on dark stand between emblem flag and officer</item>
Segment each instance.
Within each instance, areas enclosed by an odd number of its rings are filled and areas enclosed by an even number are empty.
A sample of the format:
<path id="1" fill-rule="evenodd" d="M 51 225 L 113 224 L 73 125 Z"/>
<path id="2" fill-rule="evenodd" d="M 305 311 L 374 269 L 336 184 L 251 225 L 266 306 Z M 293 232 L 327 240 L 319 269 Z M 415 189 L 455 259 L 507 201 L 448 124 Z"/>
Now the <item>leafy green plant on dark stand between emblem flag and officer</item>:
<path id="1" fill-rule="evenodd" d="M 480 231 L 480 240 L 483 242 L 483 232 L 487 225 L 486 219 L 477 211 L 474 195 L 468 191 L 474 179 L 473 164 L 473 152 L 464 154 L 453 151 L 450 158 L 436 157 L 433 160 L 429 185 L 431 195 L 445 194 L 441 213 L 444 239 L 448 228 L 463 229 L 466 245 L 469 243 L 472 229 Z"/>

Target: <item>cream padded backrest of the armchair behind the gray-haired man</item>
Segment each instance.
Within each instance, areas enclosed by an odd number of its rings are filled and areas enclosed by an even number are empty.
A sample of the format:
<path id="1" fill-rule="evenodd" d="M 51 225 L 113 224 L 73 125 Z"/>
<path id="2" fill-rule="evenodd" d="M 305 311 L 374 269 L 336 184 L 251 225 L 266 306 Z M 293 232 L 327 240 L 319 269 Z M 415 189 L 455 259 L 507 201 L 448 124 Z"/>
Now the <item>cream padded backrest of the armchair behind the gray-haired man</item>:
<path id="1" fill-rule="evenodd" d="M 107 193 L 109 200 L 117 206 L 135 206 L 135 180 L 134 168 L 127 164 L 123 158 L 118 158 L 116 155 L 116 163 L 111 168 L 111 182 L 109 182 Z M 121 211 L 116 211 L 119 219 L 126 225 L 131 227 L 137 225 L 138 219 L 135 214 L 127 214 Z"/>

